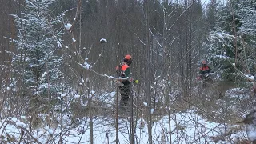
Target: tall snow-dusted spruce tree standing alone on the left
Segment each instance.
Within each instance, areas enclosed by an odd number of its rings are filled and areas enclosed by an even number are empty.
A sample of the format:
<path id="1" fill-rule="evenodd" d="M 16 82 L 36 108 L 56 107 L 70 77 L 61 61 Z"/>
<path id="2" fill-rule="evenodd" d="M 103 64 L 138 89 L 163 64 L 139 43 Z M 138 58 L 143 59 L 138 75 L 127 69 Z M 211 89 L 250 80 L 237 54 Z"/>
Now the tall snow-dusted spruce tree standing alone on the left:
<path id="1" fill-rule="evenodd" d="M 18 39 L 14 41 L 16 54 L 12 60 L 13 86 L 18 87 L 18 96 L 24 101 L 28 114 L 52 110 L 61 91 L 62 57 L 58 55 L 61 20 L 51 17 L 52 2 L 54 0 L 26 0 L 22 15 L 13 15 L 18 27 Z"/>

